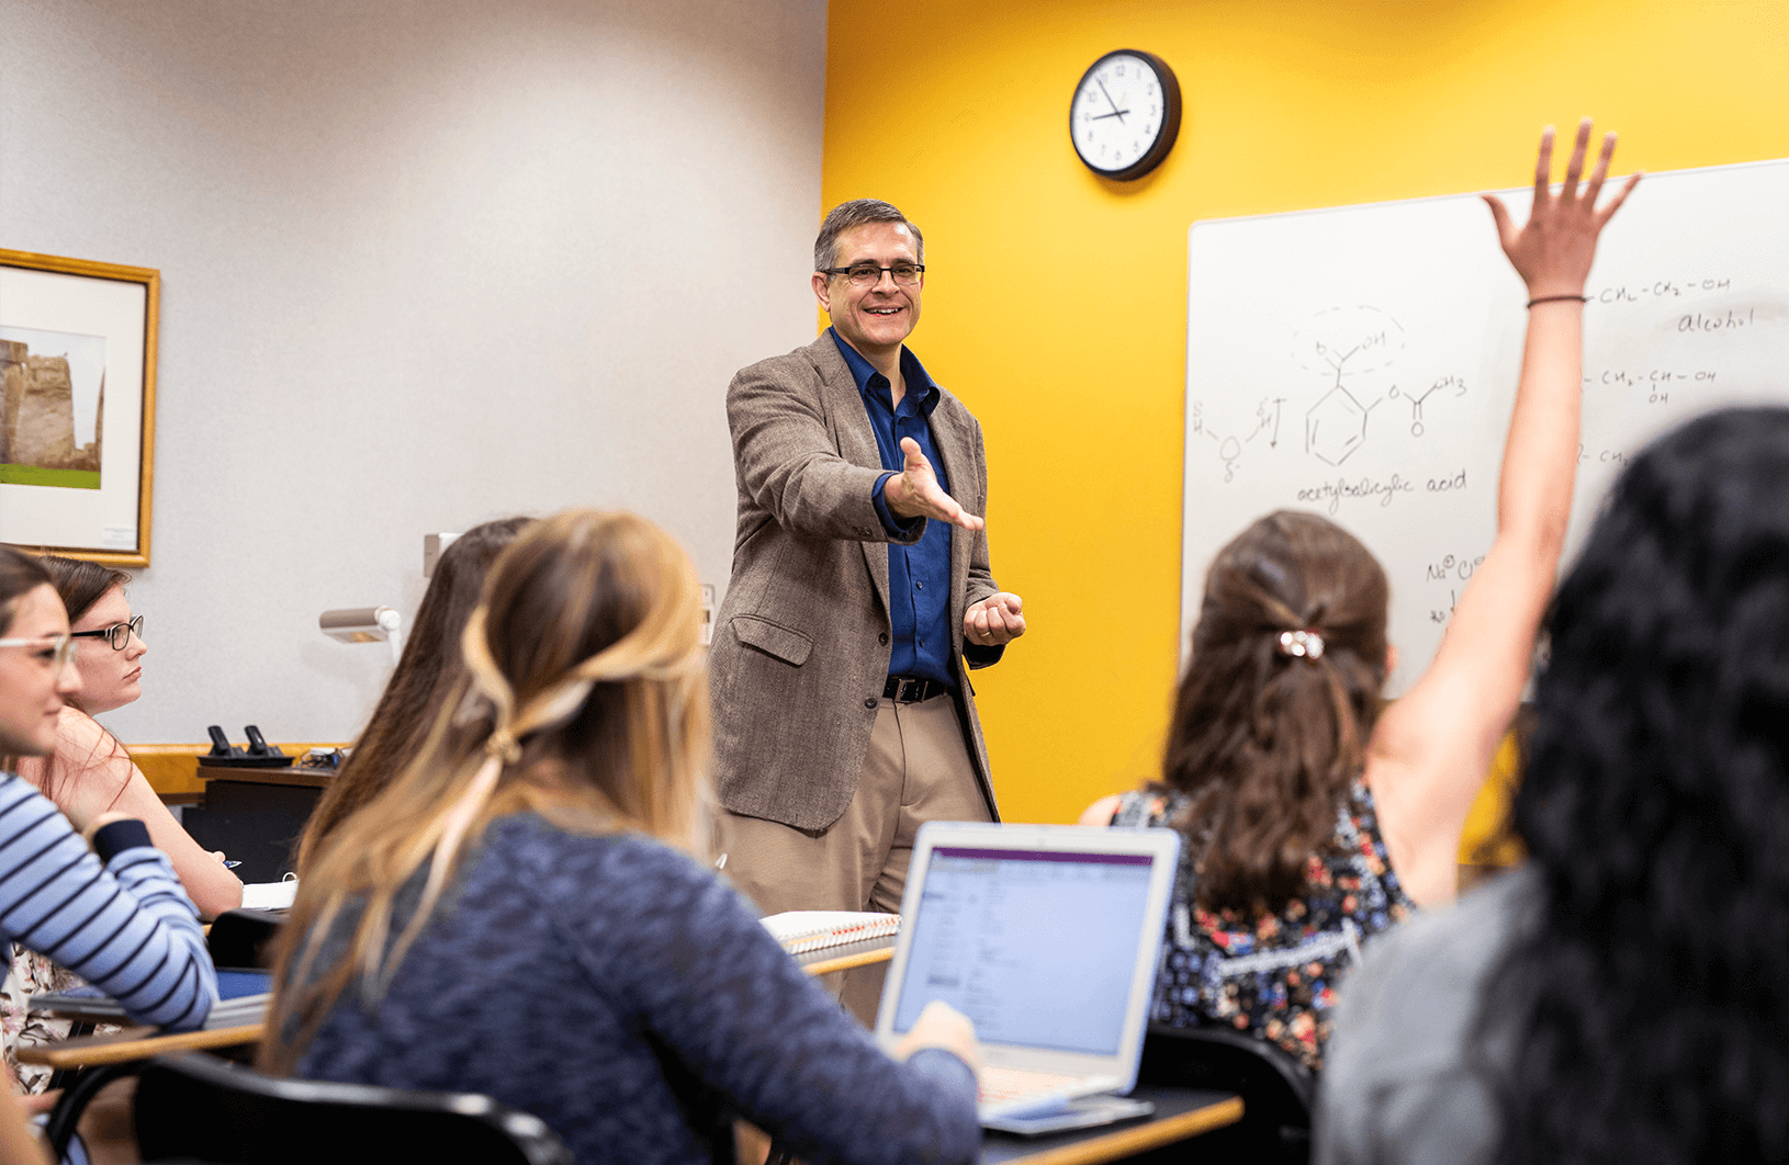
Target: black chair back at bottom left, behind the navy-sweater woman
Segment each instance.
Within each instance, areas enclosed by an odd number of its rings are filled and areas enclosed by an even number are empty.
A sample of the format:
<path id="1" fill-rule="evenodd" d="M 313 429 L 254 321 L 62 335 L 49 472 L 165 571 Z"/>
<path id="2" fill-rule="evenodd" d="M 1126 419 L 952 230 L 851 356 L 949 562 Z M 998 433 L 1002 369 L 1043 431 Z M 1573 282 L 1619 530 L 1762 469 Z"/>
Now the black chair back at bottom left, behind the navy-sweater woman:
<path id="1" fill-rule="evenodd" d="M 408 1092 L 263 1076 L 204 1052 L 143 1065 L 136 1140 L 145 1161 L 571 1165 L 538 1117 L 471 1092 Z"/>

